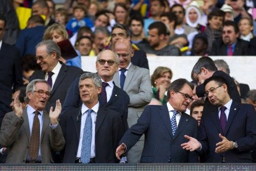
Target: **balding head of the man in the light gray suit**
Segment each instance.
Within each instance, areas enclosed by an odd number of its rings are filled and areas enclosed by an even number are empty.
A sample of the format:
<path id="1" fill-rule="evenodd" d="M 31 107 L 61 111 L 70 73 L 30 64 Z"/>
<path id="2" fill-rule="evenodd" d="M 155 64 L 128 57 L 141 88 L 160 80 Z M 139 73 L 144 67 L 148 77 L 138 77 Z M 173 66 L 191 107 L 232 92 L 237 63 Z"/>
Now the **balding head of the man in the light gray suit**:
<path id="1" fill-rule="evenodd" d="M 114 45 L 114 52 L 119 56 L 119 67 L 126 69 L 131 62 L 131 57 L 134 55 L 131 42 L 127 39 L 119 39 Z"/>

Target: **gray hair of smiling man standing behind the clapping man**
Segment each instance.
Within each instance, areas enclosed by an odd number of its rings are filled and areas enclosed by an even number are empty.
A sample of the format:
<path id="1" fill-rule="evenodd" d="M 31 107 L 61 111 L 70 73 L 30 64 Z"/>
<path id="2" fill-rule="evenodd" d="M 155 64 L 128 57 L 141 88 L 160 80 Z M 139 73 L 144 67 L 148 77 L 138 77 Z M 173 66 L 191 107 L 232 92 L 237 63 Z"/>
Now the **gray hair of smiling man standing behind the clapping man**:
<path id="1" fill-rule="evenodd" d="M 39 44 L 36 45 L 35 49 L 37 49 L 40 46 L 46 46 L 46 53 L 48 54 L 52 54 L 53 52 L 56 52 L 57 59 L 59 59 L 61 52 L 56 42 L 54 42 L 53 40 L 44 40 L 39 42 Z"/>

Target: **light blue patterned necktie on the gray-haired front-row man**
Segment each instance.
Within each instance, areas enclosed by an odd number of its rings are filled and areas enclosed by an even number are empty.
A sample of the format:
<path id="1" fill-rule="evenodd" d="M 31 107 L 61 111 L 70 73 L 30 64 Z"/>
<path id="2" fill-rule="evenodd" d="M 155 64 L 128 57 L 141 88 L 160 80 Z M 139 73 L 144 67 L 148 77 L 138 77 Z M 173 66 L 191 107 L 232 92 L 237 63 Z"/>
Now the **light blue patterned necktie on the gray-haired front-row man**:
<path id="1" fill-rule="evenodd" d="M 89 163 L 91 158 L 91 144 L 92 144 L 92 109 L 87 110 L 86 124 L 84 124 L 83 136 L 82 136 L 82 148 L 81 148 L 81 162 Z"/>

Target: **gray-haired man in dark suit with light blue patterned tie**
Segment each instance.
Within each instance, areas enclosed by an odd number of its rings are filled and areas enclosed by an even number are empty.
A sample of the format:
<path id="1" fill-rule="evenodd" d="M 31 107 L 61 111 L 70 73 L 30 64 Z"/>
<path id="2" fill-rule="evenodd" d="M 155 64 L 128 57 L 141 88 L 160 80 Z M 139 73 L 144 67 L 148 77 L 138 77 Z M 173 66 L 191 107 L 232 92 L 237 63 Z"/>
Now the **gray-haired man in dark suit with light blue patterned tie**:
<path id="1" fill-rule="evenodd" d="M 82 105 L 60 117 L 66 140 L 63 163 L 115 163 L 115 149 L 124 134 L 119 114 L 98 101 L 102 81 L 95 73 L 79 80 Z"/>

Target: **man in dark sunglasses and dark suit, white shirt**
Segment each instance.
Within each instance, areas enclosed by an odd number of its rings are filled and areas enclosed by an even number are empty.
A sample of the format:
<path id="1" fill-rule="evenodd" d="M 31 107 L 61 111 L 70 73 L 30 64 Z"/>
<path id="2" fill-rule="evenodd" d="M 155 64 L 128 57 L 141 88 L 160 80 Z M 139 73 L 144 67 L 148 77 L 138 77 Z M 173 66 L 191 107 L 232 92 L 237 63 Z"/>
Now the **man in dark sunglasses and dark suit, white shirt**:
<path id="1" fill-rule="evenodd" d="M 127 113 L 130 98 L 127 93 L 117 87 L 113 81 L 114 74 L 118 70 L 118 65 L 118 55 L 113 51 L 103 50 L 98 54 L 96 59 L 96 70 L 103 84 L 102 91 L 98 98 L 101 105 L 119 113 L 123 121 L 124 129 L 127 130 Z M 62 113 L 65 113 L 69 109 L 78 108 L 82 104 L 78 85 L 79 78 L 76 78 L 67 91 Z"/>

